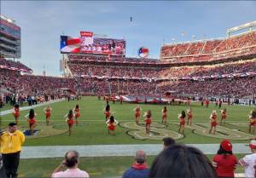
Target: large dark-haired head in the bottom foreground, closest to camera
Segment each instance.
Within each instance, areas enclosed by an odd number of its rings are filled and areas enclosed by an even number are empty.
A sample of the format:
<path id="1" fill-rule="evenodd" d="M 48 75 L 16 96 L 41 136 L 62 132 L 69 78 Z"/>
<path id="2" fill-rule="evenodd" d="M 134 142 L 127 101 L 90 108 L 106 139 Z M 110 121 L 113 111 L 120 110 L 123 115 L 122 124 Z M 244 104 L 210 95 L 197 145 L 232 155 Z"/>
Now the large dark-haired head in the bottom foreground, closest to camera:
<path id="1" fill-rule="evenodd" d="M 211 161 L 197 148 L 173 145 L 154 159 L 148 177 L 217 177 Z"/>

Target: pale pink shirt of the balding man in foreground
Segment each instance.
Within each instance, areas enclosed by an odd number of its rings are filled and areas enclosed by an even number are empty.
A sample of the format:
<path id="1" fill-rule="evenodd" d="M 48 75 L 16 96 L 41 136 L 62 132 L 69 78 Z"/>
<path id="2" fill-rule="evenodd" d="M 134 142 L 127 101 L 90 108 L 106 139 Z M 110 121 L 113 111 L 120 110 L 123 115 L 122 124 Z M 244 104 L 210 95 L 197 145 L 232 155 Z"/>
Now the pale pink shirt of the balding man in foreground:
<path id="1" fill-rule="evenodd" d="M 51 177 L 89 177 L 89 175 L 84 170 L 77 168 L 53 173 Z"/>

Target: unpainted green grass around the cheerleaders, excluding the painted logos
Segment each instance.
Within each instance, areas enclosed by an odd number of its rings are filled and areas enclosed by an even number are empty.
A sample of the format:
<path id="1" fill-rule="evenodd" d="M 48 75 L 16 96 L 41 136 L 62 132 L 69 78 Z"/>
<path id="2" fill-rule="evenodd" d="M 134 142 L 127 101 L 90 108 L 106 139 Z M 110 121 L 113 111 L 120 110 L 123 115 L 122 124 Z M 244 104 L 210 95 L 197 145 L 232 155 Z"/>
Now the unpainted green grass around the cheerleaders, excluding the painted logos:
<path id="1" fill-rule="evenodd" d="M 103 114 L 104 107 L 106 106 L 106 101 L 97 100 L 96 97 L 86 96 L 82 100 L 73 100 L 70 102 L 61 101 L 58 103 L 51 104 L 53 108 L 52 116 L 50 119 L 50 124 L 52 127 L 54 124 L 55 129 L 67 129 L 67 123 L 63 116 L 68 112 L 69 109 L 79 104 L 81 109 L 80 122 L 83 123 L 79 126 L 73 126 L 73 135 L 69 137 L 67 132 L 61 135 L 48 136 L 43 138 L 26 139 L 24 146 L 54 146 L 54 145 L 98 145 L 98 144 L 146 144 L 146 143 L 160 143 L 160 141 L 151 140 L 137 140 L 133 139 L 130 135 L 126 135 L 126 132 L 130 129 L 123 127 L 118 127 L 116 129 L 116 135 L 108 135 L 108 130 L 105 123 L 105 116 Z M 120 105 L 119 102 L 112 104 L 110 102 L 111 110 L 113 111 L 113 116 L 119 122 L 134 121 L 134 111 L 133 109 L 137 104 L 123 103 Z M 143 112 L 148 109 L 152 110 L 153 122 L 161 122 L 161 109 L 164 105 L 150 105 L 142 104 Z M 44 109 L 45 106 L 38 106 L 35 108 L 37 113 L 37 120 L 40 124 L 44 123 Z M 241 122 L 247 123 L 247 115 L 253 109 L 251 106 L 224 106 L 228 112 L 228 122 Z M 168 111 L 168 122 L 178 122 L 177 114 L 182 110 L 188 109 L 188 106 L 167 106 Z M 200 103 L 193 103 L 192 110 L 194 113 L 194 122 L 209 122 L 209 116 L 213 109 L 218 110 L 214 104 L 211 104 L 209 108 L 201 106 Z M 143 113 L 142 112 L 142 113 Z M 28 123 L 24 116 L 28 113 L 28 110 L 20 112 L 20 124 L 28 128 Z M 219 121 L 218 112 L 218 121 Z M 14 121 L 13 114 L 8 114 L 2 117 L 2 127 L 6 126 L 10 121 Z M 141 122 L 143 118 L 141 117 Z M 227 124 L 230 129 L 241 129 L 243 132 L 247 132 L 247 128 L 242 128 L 240 126 L 235 126 Z M 176 124 L 170 124 L 167 129 L 172 129 L 177 131 L 178 126 Z M 184 138 L 178 140 L 177 142 L 183 143 L 219 143 L 221 139 L 212 138 L 209 136 L 195 135 L 192 133 L 192 129 L 185 129 Z M 245 142 L 248 141 L 232 141 L 235 142 Z"/>

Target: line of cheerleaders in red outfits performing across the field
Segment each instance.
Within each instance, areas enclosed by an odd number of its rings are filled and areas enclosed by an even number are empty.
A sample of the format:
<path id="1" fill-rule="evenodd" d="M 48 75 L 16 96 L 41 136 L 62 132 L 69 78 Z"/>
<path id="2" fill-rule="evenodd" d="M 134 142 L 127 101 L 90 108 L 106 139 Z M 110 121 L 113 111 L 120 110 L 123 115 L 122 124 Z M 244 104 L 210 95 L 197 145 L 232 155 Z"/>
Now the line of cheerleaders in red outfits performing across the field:
<path id="1" fill-rule="evenodd" d="M 138 124 L 139 119 L 141 117 L 141 112 L 143 109 L 140 106 L 137 106 L 134 108 L 135 112 L 135 122 Z M 52 108 L 50 106 L 47 106 L 44 108 L 44 114 L 45 114 L 45 120 L 46 124 L 49 125 L 49 119 L 51 116 Z M 167 124 L 167 108 L 164 106 L 162 109 L 162 124 Z M 19 105 L 15 105 L 14 107 L 14 116 L 15 116 L 15 123 L 19 123 L 19 118 L 20 118 L 20 107 Z M 118 121 L 113 118 L 113 115 L 110 110 L 110 106 L 107 102 L 107 106 L 105 108 L 105 119 L 106 119 L 106 124 L 108 127 L 108 134 L 110 135 L 115 135 L 114 130 L 116 126 L 118 125 Z M 224 108 L 223 110 L 220 110 L 221 114 L 221 121 L 220 123 L 225 124 L 225 120 L 227 118 L 227 110 Z M 36 126 L 36 116 L 37 114 L 34 112 L 33 109 L 30 110 L 28 114 L 26 114 L 25 118 L 27 118 L 27 122 L 29 123 L 29 129 L 31 132 L 31 135 L 33 135 L 33 130 Z M 80 118 L 80 108 L 79 105 L 76 105 L 73 109 L 69 110 L 69 112 L 64 116 L 65 121 L 67 122 L 68 125 L 68 135 L 72 134 L 72 128 L 73 128 L 73 123 L 76 123 L 76 125 L 79 124 L 79 118 Z M 148 112 L 145 112 L 143 115 L 145 126 L 146 126 L 146 134 L 150 133 L 150 124 L 153 121 L 152 118 L 152 113 L 151 110 L 148 110 Z M 180 114 L 178 114 L 178 121 L 179 121 L 179 129 L 178 133 L 184 133 L 184 128 L 185 128 L 185 123 L 186 123 L 186 118 L 187 118 L 187 124 L 191 125 L 192 120 L 193 120 L 193 112 L 191 107 L 185 112 L 182 111 Z M 75 119 L 75 120 L 74 120 Z M 249 122 L 248 122 L 248 132 L 254 134 L 256 128 L 256 109 L 250 112 L 249 115 Z M 210 129 L 209 129 L 209 134 L 216 134 L 216 127 L 218 125 L 218 115 L 216 110 L 213 110 L 211 115 L 210 115 Z"/>

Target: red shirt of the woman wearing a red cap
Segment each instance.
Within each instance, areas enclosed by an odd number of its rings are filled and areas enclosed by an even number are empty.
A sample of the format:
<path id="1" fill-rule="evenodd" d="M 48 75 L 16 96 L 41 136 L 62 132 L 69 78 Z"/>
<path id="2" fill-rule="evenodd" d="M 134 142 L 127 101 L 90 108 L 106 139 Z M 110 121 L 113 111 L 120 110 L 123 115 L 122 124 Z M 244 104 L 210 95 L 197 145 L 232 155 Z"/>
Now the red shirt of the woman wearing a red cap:
<path id="1" fill-rule="evenodd" d="M 234 171 L 236 169 L 237 160 L 234 155 L 228 154 L 224 156 L 223 154 L 217 154 L 213 157 L 213 162 L 217 163 L 215 171 L 219 177 L 235 176 Z"/>

